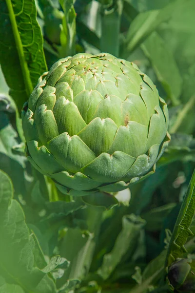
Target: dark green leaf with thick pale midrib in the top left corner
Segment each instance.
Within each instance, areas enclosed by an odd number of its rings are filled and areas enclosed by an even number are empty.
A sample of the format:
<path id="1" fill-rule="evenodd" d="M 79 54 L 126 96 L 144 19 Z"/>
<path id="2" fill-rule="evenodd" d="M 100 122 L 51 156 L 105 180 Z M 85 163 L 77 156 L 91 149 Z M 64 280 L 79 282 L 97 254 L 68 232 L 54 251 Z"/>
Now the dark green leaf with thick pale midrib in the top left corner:
<path id="1" fill-rule="evenodd" d="M 0 26 L 0 64 L 20 112 L 46 71 L 34 0 L 1 1 Z"/>

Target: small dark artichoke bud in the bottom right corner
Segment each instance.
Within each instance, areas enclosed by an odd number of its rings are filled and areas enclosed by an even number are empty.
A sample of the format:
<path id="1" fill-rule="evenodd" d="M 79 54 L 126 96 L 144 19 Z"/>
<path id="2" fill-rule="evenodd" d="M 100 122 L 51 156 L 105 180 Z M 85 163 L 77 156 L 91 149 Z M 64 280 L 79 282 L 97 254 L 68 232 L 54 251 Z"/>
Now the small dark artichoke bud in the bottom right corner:
<path id="1" fill-rule="evenodd" d="M 176 292 L 195 293 L 195 260 L 177 259 L 169 267 L 168 280 Z"/>

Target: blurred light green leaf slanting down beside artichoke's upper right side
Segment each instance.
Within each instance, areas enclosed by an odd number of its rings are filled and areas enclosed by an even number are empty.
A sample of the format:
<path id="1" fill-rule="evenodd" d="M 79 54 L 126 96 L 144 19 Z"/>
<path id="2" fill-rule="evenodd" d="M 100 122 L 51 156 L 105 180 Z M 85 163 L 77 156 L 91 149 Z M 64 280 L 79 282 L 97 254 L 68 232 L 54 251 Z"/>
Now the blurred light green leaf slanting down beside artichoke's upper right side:
<path id="1" fill-rule="evenodd" d="M 156 32 L 153 32 L 148 37 L 141 45 L 141 48 L 146 57 L 151 61 L 157 79 L 166 91 L 167 98 L 171 100 L 173 105 L 178 105 L 182 89 L 182 79 L 173 53 Z"/>

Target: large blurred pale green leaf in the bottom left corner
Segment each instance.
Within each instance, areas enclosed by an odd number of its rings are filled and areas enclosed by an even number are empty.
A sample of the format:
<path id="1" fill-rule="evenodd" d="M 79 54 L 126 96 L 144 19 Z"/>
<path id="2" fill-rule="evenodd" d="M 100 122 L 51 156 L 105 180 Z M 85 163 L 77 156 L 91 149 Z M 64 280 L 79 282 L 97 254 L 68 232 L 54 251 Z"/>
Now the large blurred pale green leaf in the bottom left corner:
<path id="1" fill-rule="evenodd" d="M 55 293 L 52 279 L 34 267 L 35 241 L 20 204 L 13 199 L 12 182 L 0 171 L 0 271 L 25 292 Z"/>

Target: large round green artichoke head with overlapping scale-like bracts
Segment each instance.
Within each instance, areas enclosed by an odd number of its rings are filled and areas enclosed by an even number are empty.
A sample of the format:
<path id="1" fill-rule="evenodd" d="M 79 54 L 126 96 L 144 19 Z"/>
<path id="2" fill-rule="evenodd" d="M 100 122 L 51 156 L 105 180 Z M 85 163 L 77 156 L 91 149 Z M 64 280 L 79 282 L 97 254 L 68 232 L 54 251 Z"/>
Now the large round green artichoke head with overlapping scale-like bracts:
<path id="1" fill-rule="evenodd" d="M 117 192 L 155 170 L 168 110 L 134 63 L 101 53 L 60 59 L 23 107 L 31 164 L 70 195 Z"/>

